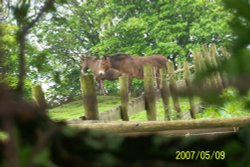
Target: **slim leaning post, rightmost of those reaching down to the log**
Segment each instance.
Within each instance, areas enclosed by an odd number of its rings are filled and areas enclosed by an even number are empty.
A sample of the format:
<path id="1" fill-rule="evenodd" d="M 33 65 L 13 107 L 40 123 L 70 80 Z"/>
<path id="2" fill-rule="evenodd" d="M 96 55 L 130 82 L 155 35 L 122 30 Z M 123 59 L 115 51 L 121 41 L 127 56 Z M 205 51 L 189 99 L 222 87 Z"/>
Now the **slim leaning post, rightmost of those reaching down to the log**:
<path id="1" fill-rule="evenodd" d="M 187 85 L 187 89 L 191 90 L 192 89 L 192 85 L 191 85 L 191 74 L 190 74 L 190 70 L 188 67 L 188 62 L 184 62 L 183 64 L 183 68 L 184 68 L 184 79 Z M 190 115 L 191 118 L 195 119 L 195 104 L 194 104 L 194 99 L 192 95 L 189 95 L 189 104 L 190 104 Z"/>

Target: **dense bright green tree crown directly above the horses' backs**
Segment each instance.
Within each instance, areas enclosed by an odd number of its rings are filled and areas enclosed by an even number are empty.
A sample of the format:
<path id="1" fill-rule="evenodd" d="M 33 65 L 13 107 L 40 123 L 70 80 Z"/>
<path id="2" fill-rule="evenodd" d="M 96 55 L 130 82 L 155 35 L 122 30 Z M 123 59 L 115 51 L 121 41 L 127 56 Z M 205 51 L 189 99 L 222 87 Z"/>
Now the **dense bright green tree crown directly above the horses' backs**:
<path id="1" fill-rule="evenodd" d="M 117 23 L 104 31 L 101 42 L 93 47 L 95 52 L 171 54 L 182 61 L 201 43 L 221 46 L 231 38 L 227 24 L 231 16 L 221 1 L 113 3 Z"/>

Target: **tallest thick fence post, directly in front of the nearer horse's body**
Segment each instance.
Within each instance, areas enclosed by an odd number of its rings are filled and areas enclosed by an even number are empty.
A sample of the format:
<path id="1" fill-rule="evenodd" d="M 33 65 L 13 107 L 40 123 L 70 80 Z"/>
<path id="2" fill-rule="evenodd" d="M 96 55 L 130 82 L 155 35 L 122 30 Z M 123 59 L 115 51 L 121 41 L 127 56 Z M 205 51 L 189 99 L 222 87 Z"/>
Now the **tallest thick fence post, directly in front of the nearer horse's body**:
<path id="1" fill-rule="evenodd" d="M 143 71 L 147 119 L 149 121 L 154 121 L 156 120 L 156 101 L 154 92 L 153 68 L 150 64 L 145 64 L 143 66 Z"/>

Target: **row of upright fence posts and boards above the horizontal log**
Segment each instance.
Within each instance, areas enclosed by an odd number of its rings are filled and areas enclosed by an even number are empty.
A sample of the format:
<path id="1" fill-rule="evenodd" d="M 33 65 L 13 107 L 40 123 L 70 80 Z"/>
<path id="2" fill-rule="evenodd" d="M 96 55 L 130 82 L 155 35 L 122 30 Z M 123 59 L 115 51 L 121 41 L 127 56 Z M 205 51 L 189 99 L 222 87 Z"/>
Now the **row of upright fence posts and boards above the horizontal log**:
<path id="1" fill-rule="evenodd" d="M 124 121 L 128 121 L 131 115 L 141 111 L 146 111 L 147 120 L 155 121 L 157 115 L 156 101 L 161 98 L 164 106 L 165 120 L 170 120 L 171 118 L 169 112 L 170 100 L 173 101 L 173 109 L 177 112 L 177 118 L 183 119 L 183 113 L 185 112 L 181 111 L 179 97 L 175 92 L 178 89 L 183 88 L 185 88 L 186 90 L 191 90 L 193 87 L 192 74 L 196 71 L 204 71 L 204 69 L 206 68 L 217 67 L 220 62 L 218 61 L 219 58 L 228 58 L 228 53 L 225 50 L 222 52 L 221 55 L 222 56 L 220 57 L 218 56 L 215 45 L 211 45 L 210 48 L 203 46 L 201 52 L 193 52 L 194 65 L 189 65 L 188 62 L 184 62 L 182 68 L 174 70 L 174 64 L 172 62 L 168 62 L 166 64 L 167 70 L 160 71 L 161 88 L 158 91 L 156 91 L 154 87 L 153 69 L 150 65 L 146 64 L 144 66 L 144 94 L 133 100 L 129 100 L 128 77 L 122 76 L 119 79 L 121 105 L 117 106 L 114 109 L 108 110 L 107 112 L 99 113 L 96 115 L 98 115 L 99 120 L 114 121 L 122 119 Z M 192 70 L 192 72 L 190 70 Z M 81 78 L 84 77 L 88 76 L 81 76 Z M 86 80 L 89 79 L 93 80 L 93 77 L 88 77 L 88 79 Z M 84 79 L 81 79 L 81 81 L 82 80 Z M 93 83 L 93 81 L 91 81 L 91 83 Z M 206 85 L 213 85 L 218 88 L 224 88 L 225 79 L 223 78 L 222 74 L 216 72 L 203 82 L 202 86 Z M 88 90 L 92 91 L 91 89 L 87 89 L 86 91 Z M 83 99 L 87 98 L 90 98 L 89 95 L 83 92 Z M 190 109 L 188 111 L 190 115 L 189 117 L 195 119 L 197 105 L 199 104 L 195 104 L 192 95 L 189 95 L 188 99 L 190 105 Z M 87 110 L 87 108 L 98 108 L 97 101 L 84 103 L 84 105 L 92 106 L 85 107 L 85 116 L 87 116 L 87 119 L 97 119 L 97 117 L 89 117 L 89 115 L 91 115 L 90 113 L 92 113 L 93 110 Z"/>

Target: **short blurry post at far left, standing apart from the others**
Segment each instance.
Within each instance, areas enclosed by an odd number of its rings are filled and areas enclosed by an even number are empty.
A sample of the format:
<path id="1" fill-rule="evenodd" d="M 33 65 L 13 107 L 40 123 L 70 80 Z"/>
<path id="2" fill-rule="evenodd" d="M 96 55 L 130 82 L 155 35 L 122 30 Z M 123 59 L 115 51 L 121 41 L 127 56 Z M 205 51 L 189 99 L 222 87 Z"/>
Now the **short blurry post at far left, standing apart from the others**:
<path id="1" fill-rule="evenodd" d="M 39 107 L 46 111 L 47 104 L 41 85 L 35 85 L 32 87 L 32 98 Z"/>

